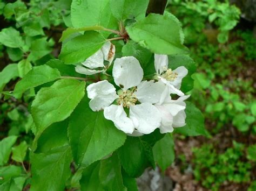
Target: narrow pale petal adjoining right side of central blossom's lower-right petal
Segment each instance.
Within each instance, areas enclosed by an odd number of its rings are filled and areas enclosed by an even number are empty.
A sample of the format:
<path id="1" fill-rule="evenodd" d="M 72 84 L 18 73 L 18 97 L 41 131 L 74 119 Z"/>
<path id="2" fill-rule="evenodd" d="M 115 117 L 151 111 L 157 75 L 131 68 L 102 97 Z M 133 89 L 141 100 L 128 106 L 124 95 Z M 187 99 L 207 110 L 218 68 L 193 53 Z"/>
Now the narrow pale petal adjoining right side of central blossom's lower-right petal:
<path id="1" fill-rule="evenodd" d="M 172 123 L 173 116 L 163 105 L 155 105 L 161 114 L 161 125 L 159 126 L 160 133 L 168 133 L 173 131 Z"/>

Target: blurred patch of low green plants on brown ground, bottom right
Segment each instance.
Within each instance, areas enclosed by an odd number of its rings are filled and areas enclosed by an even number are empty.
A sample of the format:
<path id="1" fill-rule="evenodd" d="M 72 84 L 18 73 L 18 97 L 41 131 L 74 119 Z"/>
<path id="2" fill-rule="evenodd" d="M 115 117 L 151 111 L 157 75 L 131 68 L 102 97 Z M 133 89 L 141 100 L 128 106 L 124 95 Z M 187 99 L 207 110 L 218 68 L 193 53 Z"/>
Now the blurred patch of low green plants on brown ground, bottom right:
<path id="1" fill-rule="evenodd" d="M 243 162 L 244 145 L 233 142 L 233 147 L 224 153 L 217 153 L 213 145 L 204 145 L 194 148 L 194 176 L 206 188 L 218 190 L 225 181 L 248 182 L 250 181 L 249 162 Z M 208 169 L 205 171 L 204 169 Z"/>

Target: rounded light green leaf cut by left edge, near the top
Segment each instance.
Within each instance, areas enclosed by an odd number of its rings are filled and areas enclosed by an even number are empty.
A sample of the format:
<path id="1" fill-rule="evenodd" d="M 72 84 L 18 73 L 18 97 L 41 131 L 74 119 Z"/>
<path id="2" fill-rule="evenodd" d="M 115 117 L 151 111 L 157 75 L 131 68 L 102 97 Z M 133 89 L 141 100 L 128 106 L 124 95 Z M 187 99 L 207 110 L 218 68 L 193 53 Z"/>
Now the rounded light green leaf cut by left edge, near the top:
<path id="1" fill-rule="evenodd" d="M 0 32 L 0 43 L 11 48 L 18 48 L 23 46 L 21 34 L 16 29 L 9 27 Z"/>

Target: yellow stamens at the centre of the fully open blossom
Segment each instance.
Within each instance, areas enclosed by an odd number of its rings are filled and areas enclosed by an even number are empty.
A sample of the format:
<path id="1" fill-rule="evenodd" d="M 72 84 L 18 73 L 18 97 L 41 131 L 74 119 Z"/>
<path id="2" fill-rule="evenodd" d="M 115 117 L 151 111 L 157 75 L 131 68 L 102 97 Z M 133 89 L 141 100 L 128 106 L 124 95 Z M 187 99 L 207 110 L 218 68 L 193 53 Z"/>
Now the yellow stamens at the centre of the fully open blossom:
<path id="1" fill-rule="evenodd" d="M 138 101 L 136 98 L 136 95 L 133 93 L 136 91 L 136 88 L 133 88 L 132 90 L 127 89 L 126 91 L 123 91 L 122 89 L 117 91 L 117 94 L 119 96 L 117 103 L 119 105 L 123 104 L 124 108 L 130 108 L 131 105 L 135 105 L 135 103 Z"/>

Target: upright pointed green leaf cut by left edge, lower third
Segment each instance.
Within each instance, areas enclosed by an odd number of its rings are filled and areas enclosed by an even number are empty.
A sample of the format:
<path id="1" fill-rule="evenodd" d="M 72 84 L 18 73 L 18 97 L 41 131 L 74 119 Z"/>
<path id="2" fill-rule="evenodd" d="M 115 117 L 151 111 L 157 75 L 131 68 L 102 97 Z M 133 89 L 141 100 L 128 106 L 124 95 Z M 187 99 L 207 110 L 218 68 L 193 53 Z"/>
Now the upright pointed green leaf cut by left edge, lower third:
<path id="1" fill-rule="evenodd" d="M 17 136 L 9 136 L 1 140 L 0 142 L 0 166 L 3 166 L 8 162 L 10 154 L 11 154 L 11 147 L 15 144 L 17 140 Z"/>

